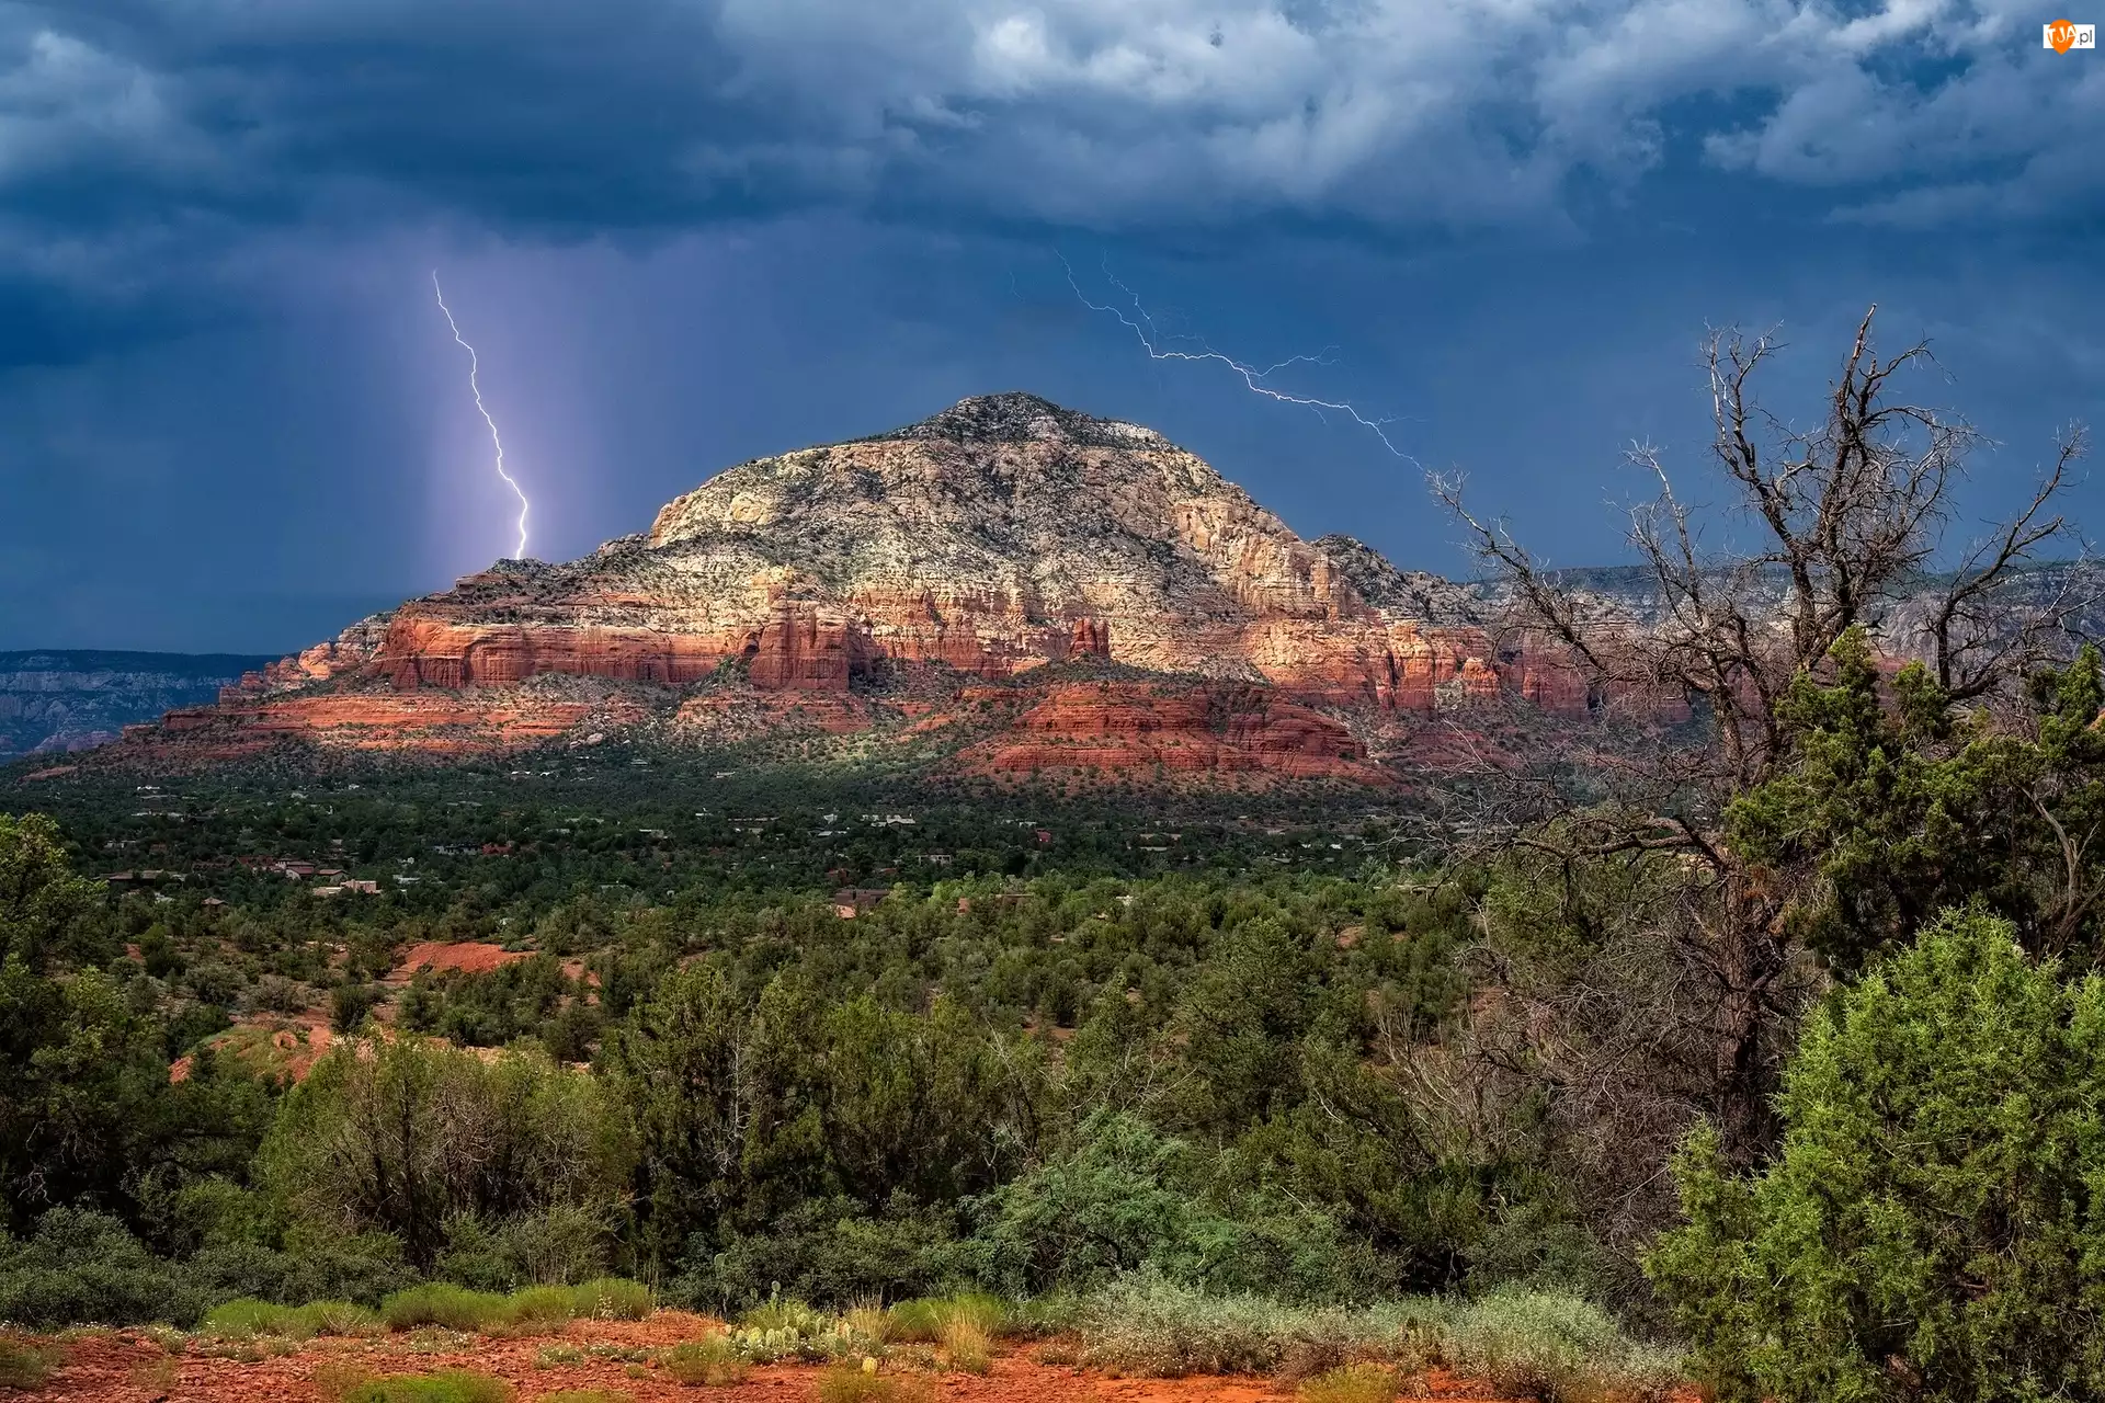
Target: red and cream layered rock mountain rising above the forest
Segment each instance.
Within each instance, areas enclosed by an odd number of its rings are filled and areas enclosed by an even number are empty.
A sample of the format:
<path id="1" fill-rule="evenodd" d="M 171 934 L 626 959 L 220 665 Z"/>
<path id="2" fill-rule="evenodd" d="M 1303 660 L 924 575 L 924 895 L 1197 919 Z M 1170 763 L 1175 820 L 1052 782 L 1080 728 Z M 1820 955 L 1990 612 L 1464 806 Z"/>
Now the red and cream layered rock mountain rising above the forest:
<path id="1" fill-rule="evenodd" d="M 1301 541 L 1151 429 L 981 395 L 726 469 L 642 536 L 499 562 L 131 740 L 486 751 L 970 715 L 970 768 L 1362 774 L 1370 717 L 1501 690 L 1585 711 L 1467 599 L 1347 536 Z M 1086 660 L 1122 667 L 1044 671 Z"/>

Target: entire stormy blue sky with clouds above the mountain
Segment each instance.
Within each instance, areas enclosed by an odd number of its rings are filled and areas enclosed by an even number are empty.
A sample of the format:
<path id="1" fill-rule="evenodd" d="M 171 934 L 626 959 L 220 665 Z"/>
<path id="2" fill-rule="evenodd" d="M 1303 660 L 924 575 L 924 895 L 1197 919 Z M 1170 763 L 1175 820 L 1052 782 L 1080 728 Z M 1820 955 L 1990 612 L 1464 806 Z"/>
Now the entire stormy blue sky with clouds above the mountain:
<path id="1" fill-rule="evenodd" d="M 1983 515 L 2105 419 L 2105 55 L 2057 17 L 0 0 L 0 648 L 288 650 L 509 553 L 434 269 L 552 560 L 996 389 L 1404 566 L 1467 568 L 1425 469 L 1619 560 L 1633 440 L 1709 492 L 1705 328 L 1781 328 L 1804 421 L 1873 301 L 1996 440 Z M 1149 360 L 1120 286 L 1398 452 Z"/>

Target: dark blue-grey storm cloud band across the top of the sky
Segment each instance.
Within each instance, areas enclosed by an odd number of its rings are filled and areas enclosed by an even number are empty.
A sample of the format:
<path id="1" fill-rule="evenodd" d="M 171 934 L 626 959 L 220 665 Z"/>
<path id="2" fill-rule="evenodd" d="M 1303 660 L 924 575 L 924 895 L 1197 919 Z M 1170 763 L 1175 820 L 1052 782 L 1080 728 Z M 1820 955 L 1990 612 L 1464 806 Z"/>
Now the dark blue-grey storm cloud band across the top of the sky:
<path id="1" fill-rule="evenodd" d="M 0 191 L 17 242 L 417 208 L 650 229 L 813 200 L 1408 229 L 1551 219 L 1575 175 L 1629 185 L 1686 141 L 1838 210 L 2040 219 L 2099 191 L 2080 154 L 2105 133 L 2105 84 L 2033 34 L 2029 11 L 1937 0 L 1857 17 L 1764 0 L 0 0 Z M 1671 130 L 1690 97 L 1718 101 Z"/>

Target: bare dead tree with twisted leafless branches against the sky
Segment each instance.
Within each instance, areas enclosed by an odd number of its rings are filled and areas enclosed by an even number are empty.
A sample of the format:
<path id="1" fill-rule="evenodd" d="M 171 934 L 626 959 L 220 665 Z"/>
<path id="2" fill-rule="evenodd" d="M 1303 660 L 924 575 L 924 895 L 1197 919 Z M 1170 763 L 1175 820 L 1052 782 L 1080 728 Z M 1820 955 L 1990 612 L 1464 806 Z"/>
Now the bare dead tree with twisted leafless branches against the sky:
<path id="1" fill-rule="evenodd" d="M 1659 854 L 1682 865 L 1684 909 L 1663 936 L 1680 961 L 1671 982 L 1678 999 L 1701 1010 L 1709 1048 L 1701 1109 L 1718 1117 L 1741 1159 L 1770 1142 L 1768 1100 L 1810 980 L 1785 930 L 1789 875 L 1743 862 L 1724 814 L 1735 795 L 1785 764 L 1779 703 L 1793 679 L 1821 675 L 1836 642 L 1865 627 L 1888 652 L 1922 656 L 1953 700 L 1987 705 L 2065 654 L 2073 621 L 2099 599 L 2088 553 L 2057 509 L 2082 433 L 2061 440 L 2012 520 L 1953 551 L 1956 488 L 1985 440 L 1962 416 L 1890 398 L 1894 379 L 1930 355 L 1916 343 L 1882 360 L 1873 313 L 1857 326 L 1810 429 L 1756 398 L 1758 372 L 1781 349 L 1772 334 L 1709 337 L 1711 454 L 1728 486 L 1726 515 L 1743 530 L 1751 524 L 1753 545 L 1713 549 L 1707 532 L 1724 522 L 1676 492 L 1657 450 L 1631 450 L 1631 463 L 1657 482 L 1629 530 L 1650 593 L 1644 618 L 1547 570 L 1503 522 L 1474 515 L 1459 480 L 1434 480 L 1503 585 L 1511 627 L 1564 654 L 1610 705 L 1686 705 L 1703 724 L 1699 745 L 1610 766 L 1608 804 L 1537 810 L 1549 822 L 1516 827 L 1505 841 L 1566 862 Z M 2044 570 L 2054 553 L 2076 562 Z M 1623 1018 L 1606 1024 L 1631 1033 Z"/>

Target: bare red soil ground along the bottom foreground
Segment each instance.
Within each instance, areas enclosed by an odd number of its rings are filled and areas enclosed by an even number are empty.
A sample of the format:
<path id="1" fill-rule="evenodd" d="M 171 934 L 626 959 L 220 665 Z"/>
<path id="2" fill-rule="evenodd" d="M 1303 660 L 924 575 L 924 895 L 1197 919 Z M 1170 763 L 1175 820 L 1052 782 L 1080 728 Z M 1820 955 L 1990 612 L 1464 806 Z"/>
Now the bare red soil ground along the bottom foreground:
<path id="1" fill-rule="evenodd" d="M 11 1395 L 19 1403 L 61 1403 L 107 1399 L 109 1403 L 322 1403 L 314 1382 L 330 1363 L 356 1365 L 370 1374 L 427 1374 L 438 1369 L 480 1369 L 507 1380 L 520 1403 L 562 1388 L 606 1388 L 636 1403 L 806 1403 L 819 1369 L 777 1365 L 754 1369 L 735 1388 L 682 1388 L 657 1369 L 629 1374 L 621 1359 L 587 1357 L 581 1363 L 552 1363 L 539 1357 L 549 1346 L 575 1350 L 592 1346 L 659 1348 L 703 1331 L 703 1321 L 661 1310 L 648 1321 L 573 1321 L 562 1329 L 533 1336 L 459 1336 L 417 1331 L 377 1340 L 309 1340 L 290 1355 L 234 1357 L 238 1346 L 192 1342 L 168 1355 L 141 1331 L 91 1331 L 74 1340 L 65 1363 L 38 1390 Z M 200 1353 L 210 1348 L 215 1353 Z M 970 1374 L 935 1376 L 943 1403 L 1280 1403 L 1288 1388 L 1252 1378 L 1107 1378 L 1092 1369 L 1046 1365 L 1036 1348 L 1023 1346 L 994 1361 L 985 1378 Z M 1492 1403 L 1495 1395 L 1465 1380 L 1431 1374 L 1427 1392 L 1417 1397 L 1448 1403 Z"/>

